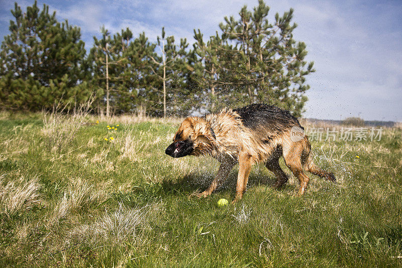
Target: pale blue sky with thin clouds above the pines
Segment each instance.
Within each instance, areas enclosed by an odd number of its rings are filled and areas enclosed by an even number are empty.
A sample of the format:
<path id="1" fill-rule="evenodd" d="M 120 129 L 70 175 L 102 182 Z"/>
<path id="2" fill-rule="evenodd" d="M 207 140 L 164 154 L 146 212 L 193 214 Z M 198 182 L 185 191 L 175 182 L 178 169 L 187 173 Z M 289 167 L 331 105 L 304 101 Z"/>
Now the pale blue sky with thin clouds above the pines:
<path id="1" fill-rule="evenodd" d="M 34 1 L 18 1 L 26 9 Z M 233 1 L 38 1 L 81 28 L 86 48 L 105 25 L 112 33 L 129 27 L 151 40 L 160 35 L 185 37 L 193 29 L 214 35 L 225 16 L 237 16 L 243 5 L 257 0 Z M 310 74 L 305 117 L 402 121 L 402 1 L 266 1 L 272 19 L 294 9 L 298 24 L 294 38 L 307 44 L 307 59 L 315 61 Z M 0 36 L 8 34 L 13 1 L 0 0 Z"/>

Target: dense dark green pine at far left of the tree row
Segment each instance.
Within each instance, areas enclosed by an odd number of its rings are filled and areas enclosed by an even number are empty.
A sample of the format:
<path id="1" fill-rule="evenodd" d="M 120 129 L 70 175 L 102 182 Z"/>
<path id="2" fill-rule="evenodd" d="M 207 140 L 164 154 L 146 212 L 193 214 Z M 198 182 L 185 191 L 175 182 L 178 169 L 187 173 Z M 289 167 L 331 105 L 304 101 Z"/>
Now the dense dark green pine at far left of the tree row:
<path id="1" fill-rule="evenodd" d="M 0 51 L 0 99 L 9 109 L 38 111 L 55 102 L 81 102 L 91 94 L 82 82 L 80 65 L 85 55 L 80 29 L 56 13 L 40 11 L 35 1 L 26 13 L 15 4 L 10 35 Z"/>

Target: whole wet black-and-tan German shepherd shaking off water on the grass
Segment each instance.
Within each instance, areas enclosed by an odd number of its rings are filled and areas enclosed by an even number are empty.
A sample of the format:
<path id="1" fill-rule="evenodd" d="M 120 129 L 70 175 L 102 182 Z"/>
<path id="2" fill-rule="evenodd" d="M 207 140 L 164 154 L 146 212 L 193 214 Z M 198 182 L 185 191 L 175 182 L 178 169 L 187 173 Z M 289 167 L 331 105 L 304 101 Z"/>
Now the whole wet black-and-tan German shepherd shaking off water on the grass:
<path id="1" fill-rule="evenodd" d="M 197 194 L 198 197 L 211 195 L 239 163 L 233 202 L 243 197 L 254 163 L 264 162 L 275 174 L 275 188 L 286 183 L 287 175 L 279 165 L 283 155 L 286 166 L 300 183 L 297 195 L 302 196 L 309 183 L 304 170 L 335 182 L 333 173 L 320 169 L 313 162 L 311 145 L 303 130 L 295 117 L 275 106 L 254 104 L 234 110 L 225 108 L 218 114 L 184 119 L 165 152 L 172 157 L 211 155 L 221 163 L 210 187 Z"/>

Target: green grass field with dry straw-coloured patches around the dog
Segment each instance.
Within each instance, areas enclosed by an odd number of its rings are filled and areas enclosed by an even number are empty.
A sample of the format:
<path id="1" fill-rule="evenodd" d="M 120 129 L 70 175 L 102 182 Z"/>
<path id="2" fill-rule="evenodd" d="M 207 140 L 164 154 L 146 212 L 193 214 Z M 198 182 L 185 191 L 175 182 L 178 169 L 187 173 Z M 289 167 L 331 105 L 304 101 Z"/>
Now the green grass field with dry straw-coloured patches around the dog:
<path id="1" fill-rule="evenodd" d="M 178 120 L 96 120 L 0 115 L 0 267 L 402 264 L 400 129 L 381 141 L 313 141 L 337 184 L 309 174 L 297 198 L 293 176 L 276 191 L 259 165 L 244 198 L 221 208 L 237 168 L 210 198 L 189 198 L 218 163 L 165 155 Z"/>

